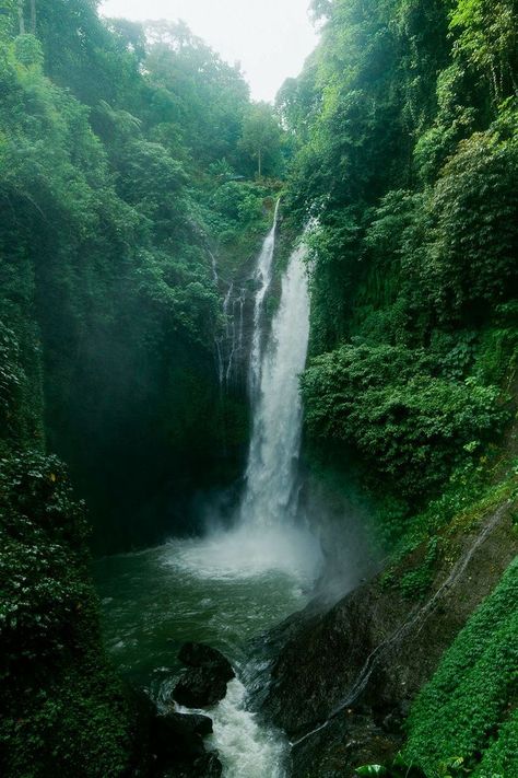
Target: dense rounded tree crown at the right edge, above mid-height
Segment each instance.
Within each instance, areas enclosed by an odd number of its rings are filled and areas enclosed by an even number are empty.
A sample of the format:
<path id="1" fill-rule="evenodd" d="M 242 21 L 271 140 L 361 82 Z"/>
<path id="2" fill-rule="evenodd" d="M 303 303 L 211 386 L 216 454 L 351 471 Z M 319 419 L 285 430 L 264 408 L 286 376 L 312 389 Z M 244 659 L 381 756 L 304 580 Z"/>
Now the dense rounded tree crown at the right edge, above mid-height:
<path id="1" fill-rule="evenodd" d="M 508 121 L 459 143 L 413 228 L 415 247 L 409 243 L 403 267 L 419 272 L 443 322 L 485 318 L 488 304 L 518 289 L 518 144 Z"/>

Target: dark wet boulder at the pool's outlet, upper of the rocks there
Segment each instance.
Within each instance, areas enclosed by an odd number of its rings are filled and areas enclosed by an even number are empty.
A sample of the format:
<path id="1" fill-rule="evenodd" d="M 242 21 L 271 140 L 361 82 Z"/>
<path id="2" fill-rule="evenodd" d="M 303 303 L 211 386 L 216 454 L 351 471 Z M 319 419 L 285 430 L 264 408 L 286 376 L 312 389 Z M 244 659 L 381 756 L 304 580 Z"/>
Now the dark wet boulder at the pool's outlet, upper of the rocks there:
<path id="1" fill-rule="evenodd" d="M 226 684 L 235 677 L 228 660 L 203 643 L 185 643 L 178 659 L 188 665 L 173 693 L 187 708 L 208 708 L 226 695 Z"/>

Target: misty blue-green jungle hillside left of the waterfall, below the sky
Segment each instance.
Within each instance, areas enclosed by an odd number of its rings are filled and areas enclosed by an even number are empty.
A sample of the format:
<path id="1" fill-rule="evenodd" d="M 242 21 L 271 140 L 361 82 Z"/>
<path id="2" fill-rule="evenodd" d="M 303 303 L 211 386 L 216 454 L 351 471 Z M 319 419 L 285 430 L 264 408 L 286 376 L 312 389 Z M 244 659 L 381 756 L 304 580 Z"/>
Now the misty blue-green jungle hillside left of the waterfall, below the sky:
<path id="1" fill-rule="evenodd" d="M 235 477 L 211 253 L 255 252 L 272 206 L 256 158 L 278 176 L 286 147 L 184 25 L 105 25 L 96 4 L 38 0 L 32 30 L 26 3 L 22 35 L 16 3 L 0 18 L 0 317 L 24 373 L 7 432 L 68 463 L 108 550 L 185 529 L 193 477 Z"/>

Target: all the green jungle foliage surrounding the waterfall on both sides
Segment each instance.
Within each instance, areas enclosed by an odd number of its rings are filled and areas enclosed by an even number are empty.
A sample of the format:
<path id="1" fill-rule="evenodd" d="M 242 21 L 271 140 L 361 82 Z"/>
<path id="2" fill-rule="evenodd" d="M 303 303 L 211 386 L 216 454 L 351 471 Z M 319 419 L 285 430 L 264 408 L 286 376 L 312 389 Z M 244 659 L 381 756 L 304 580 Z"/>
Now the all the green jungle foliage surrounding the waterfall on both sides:
<path id="1" fill-rule="evenodd" d="M 134 767 L 86 548 L 184 531 L 239 472 L 212 257 L 229 278 L 254 255 L 280 181 L 285 233 L 310 225 L 306 461 L 354 475 L 395 558 L 425 544 L 388 585 L 424 596 L 438 531 L 517 491 L 516 0 L 314 0 L 321 43 L 275 111 L 185 25 L 97 7 L 0 2 L 9 778 Z M 518 770 L 516 574 L 411 711 L 402 756 L 428 778 Z"/>

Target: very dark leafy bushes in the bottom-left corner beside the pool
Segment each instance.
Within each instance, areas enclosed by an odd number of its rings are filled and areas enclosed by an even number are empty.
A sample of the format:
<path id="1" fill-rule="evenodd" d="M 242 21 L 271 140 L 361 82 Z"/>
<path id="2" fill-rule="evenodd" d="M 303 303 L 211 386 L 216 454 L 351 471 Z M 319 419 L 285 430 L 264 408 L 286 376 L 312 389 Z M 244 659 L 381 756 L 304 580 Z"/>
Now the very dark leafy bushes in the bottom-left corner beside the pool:
<path id="1" fill-rule="evenodd" d="M 0 771 L 114 777 L 131 709 L 101 651 L 84 508 L 55 456 L 0 462 Z"/>

